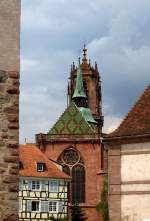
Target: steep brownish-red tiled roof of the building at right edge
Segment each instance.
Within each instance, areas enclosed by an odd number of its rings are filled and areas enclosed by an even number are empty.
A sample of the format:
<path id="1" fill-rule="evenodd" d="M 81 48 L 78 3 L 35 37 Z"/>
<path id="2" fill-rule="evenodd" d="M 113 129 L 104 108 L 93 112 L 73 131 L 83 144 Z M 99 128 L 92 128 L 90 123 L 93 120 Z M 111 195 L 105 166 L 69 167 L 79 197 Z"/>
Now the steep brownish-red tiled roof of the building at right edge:
<path id="1" fill-rule="evenodd" d="M 150 84 L 120 126 L 108 137 L 144 134 L 150 134 Z"/>

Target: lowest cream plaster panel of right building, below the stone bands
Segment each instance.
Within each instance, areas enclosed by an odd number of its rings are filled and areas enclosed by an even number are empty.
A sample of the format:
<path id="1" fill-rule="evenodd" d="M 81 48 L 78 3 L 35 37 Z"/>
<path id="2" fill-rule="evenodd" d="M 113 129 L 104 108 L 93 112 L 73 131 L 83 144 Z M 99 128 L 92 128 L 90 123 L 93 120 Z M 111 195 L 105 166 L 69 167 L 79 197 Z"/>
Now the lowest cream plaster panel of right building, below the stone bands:
<path id="1" fill-rule="evenodd" d="M 122 195 L 121 221 L 144 221 L 150 219 L 150 195 Z"/>

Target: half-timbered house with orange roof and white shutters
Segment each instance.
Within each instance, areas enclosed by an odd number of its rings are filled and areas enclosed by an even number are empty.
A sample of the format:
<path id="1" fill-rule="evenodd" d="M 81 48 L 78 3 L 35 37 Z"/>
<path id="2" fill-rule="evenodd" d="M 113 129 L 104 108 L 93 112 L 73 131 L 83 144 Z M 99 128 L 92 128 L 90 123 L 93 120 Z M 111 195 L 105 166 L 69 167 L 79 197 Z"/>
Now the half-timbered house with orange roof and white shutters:
<path id="1" fill-rule="evenodd" d="M 20 146 L 19 220 L 50 221 L 67 217 L 69 176 L 36 146 Z"/>

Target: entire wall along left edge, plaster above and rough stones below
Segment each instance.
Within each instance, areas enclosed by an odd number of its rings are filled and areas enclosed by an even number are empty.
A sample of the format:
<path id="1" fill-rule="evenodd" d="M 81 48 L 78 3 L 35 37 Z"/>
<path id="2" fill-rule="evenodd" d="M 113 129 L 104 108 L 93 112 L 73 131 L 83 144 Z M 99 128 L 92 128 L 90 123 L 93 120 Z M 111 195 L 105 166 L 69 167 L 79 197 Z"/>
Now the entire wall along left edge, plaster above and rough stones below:
<path id="1" fill-rule="evenodd" d="M 18 220 L 20 0 L 0 0 L 0 221 Z"/>

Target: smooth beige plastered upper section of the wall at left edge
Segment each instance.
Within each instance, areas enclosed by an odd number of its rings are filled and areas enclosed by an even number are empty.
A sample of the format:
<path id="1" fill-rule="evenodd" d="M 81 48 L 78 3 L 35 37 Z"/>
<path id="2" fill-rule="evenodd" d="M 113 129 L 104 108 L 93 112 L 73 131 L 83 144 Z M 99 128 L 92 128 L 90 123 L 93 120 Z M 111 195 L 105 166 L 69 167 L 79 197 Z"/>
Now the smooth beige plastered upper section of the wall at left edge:
<path id="1" fill-rule="evenodd" d="M 0 0 L 0 70 L 19 71 L 20 0 Z"/>

